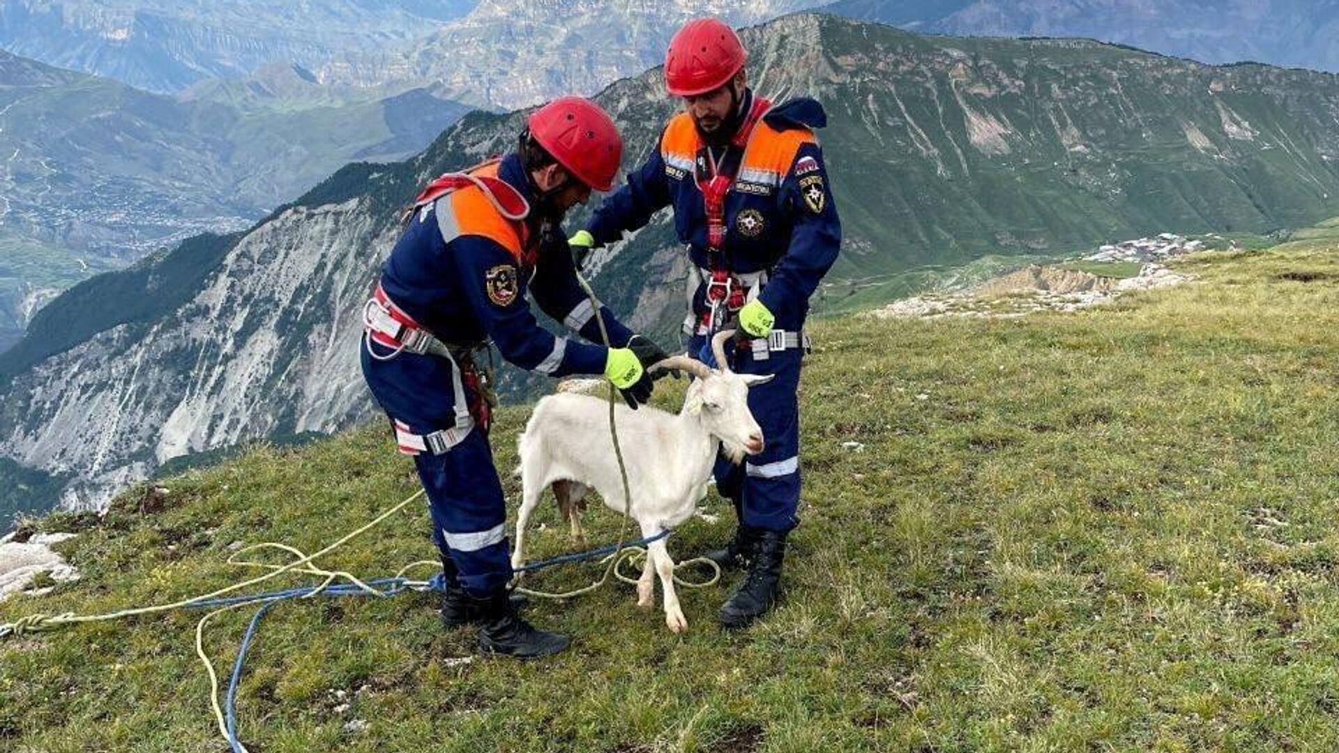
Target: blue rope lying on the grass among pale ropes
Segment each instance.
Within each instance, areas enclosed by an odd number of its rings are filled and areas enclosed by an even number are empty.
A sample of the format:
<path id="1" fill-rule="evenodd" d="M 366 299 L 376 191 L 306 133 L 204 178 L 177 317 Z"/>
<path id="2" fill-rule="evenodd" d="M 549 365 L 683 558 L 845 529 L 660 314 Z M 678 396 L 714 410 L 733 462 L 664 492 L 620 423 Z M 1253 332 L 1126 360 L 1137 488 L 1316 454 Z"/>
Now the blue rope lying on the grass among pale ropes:
<path id="1" fill-rule="evenodd" d="M 670 531 L 661 531 L 655 536 L 647 536 L 643 539 L 637 539 L 636 541 L 625 543 L 621 545 L 621 548 L 627 549 L 629 547 L 644 547 L 653 541 L 665 539 L 667 536 L 670 536 L 670 533 L 671 533 Z M 546 567 L 553 567 L 557 564 L 589 560 L 599 557 L 600 555 L 608 555 L 616 552 L 619 549 L 620 549 L 619 544 L 611 544 L 608 547 L 588 549 L 585 552 L 561 555 L 557 557 L 549 557 L 546 560 L 530 563 L 525 567 L 518 567 L 516 568 L 516 572 L 530 572 L 534 569 L 544 569 Z M 383 596 L 395 596 L 396 594 L 404 592 L 408 588 L 407 583 L 408 581 L 403 577 L 379 577 L 367 581 L 367 584 L 374 588 L 380 588 L 384 586 L 386 588 L 380 592 Z M 287 588 L 283 591 L 268 591 L 264 594 L 250 594 L 246 596 L 228 596 L 224 599 L 209 599 L 205 602 L 195 602 L 190 604 L 190 608 L 193 610 L 204 610 L 204 608 L 230 607 L 233 604 L 264 602 L 264 606 L 256 610 L 256 614 L 252 615 L 250 623 L 246 624 L 246 632 L 242 634 L 241 646 L 238 646 L 237 648 L 237 659 L 233 662 L 233 674 L 232 677 L 228 678 L 228 694 L 224 698 L 224 714 L 228 722 L 226 724 L 228 745 L 232 748 L 233 753 L 244 752 L 241 742 L 237 741 L 237 690 L 238 687 L 241 687 L 242 670 L 246 666 L 246 654 L 250 653 L 252 643 L 256 640 L 256 634 L 260 631 L 260 622 L 265 619 L 265 614 L 283 602 L 288 602 L 292 599 L 301 599 L 304 596 L 311 596 L 313 594 L 320 596 L 371 596 L 371 594 L 364 591 L 363 588 L 359 588 L 358 586 L 348 583 L 339 586 L 329 586 L 317 592 L 319 588 L 320 588 L 319 586 L 308 586 L 304 588 Z M 432 576 L 432 579 L 428 580 L 428 588 L 431 588 L 432 591 L 446 591 L 446 577 L 442 573 Z"/>

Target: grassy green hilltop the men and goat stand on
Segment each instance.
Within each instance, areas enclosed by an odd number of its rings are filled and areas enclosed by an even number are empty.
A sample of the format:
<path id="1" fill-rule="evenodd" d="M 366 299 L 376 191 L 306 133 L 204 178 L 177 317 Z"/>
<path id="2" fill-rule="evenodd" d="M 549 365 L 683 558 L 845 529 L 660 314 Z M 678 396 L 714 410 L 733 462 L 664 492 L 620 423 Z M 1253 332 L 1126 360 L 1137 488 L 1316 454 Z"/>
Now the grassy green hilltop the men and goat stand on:
<path id="1" fill-rule="evenodd" d="M 518 663 L 462 661 L 470 632 L 443 632 L 426 596 L 283 606 L 242 686 L 244 738 L 268 753 L 1334 750 L 1339 224 L 1299 236 L 1181 261 L 1198 283 L 1079 314 L 826 320 L 774 616 L 724 634 L 726 588 L 684 592 L 680 638 L 617 587 L 532 607 L 576 646 Z M 502 468 L 524 419 L 502 413 Z M 86 579 L 0 622 L 222 586 L 234 541 L 319 548 L 414 489 L 388 450 L 375 426 L 126 494 L 62 545 Z M 724 505 L 708 512 L 722 520 L 687 524 L 676 556 L 726 536 Z M 612 513 L 589 519 L 595 540 L 615 535 Z M 564 551 L 554 513 L 541 520 L 534 556 Z M 325 564 L 394 572 L 431 556 L 427 527 L 415 509 Z M 195 619 L 0 643 L 0 742 L 220 750 Z M 216 658 L 245 619 L 206 635 Z M 344 732 L 352 720 L 370 726 Z"/>

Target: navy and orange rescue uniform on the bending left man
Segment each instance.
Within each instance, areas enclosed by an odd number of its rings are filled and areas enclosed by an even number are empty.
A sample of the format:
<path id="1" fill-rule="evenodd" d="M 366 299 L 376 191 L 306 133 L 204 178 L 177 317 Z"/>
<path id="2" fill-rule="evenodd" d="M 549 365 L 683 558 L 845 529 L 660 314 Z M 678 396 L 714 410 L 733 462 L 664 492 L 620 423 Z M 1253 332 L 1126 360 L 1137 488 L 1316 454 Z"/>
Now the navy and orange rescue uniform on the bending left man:
<path id="1" fill-rule="evenodd" d="M 516 154 L 474 174 L 501 178 L 528 204 L 533 201 Z M 600 342 L 595 311 L 566 248 L 536 260 L 542 236 L 537 217 L 511 221 L 482 189 L 454 190 L 408 220 L 382 269 L 386 305 L 449 344 L 491 340 L 506 360 L 530 371 L 603 374 L 608 358 L 603 344 L 554 336 L 526 304 L 529 292 L 549 316 Z M 611 344 L 625 346 L 632 332 L 604 307 L 601 315 Z M 395 423 L 400 449 L 414 454 L 430 502 L 432 540 L 455 561 L 465 590 L 485 595 L 511 577 L 506 505 L 487 434 L 470 413 L 479 399 L 477 387 L 457 360 L 396 355 L 371 334 L 362 354 L 363 375 Z M 430 437 L 437 441 L 426 441 Z"/>

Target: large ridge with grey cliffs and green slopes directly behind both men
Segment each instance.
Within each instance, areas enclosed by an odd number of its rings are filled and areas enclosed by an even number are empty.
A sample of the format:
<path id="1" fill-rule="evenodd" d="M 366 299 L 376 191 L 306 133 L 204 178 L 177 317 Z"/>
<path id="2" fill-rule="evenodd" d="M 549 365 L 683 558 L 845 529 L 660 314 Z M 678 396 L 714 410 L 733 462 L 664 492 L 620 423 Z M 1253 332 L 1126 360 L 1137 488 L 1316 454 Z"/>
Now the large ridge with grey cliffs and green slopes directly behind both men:
<path id="1" fill-rule="evenodd" d="M 1339 213 L 1332 75 L 813 15 L 744 36 L 761 91 L 813 94 L 829 111 L 821 138 L 846 243 L 821 311 L 886 301 L 925 265 Z M 675 107 L 655 70 L 600 100 L 624 129 L 625 166 Z M 79 330 L 39 318 L 17 355 L 0 356 L 0 454 L 68 474 L 66 502 L 98 505 L 183 453 L 374 415 L 355 362 L 358 311 L 395 210 L 430 176 L 507 149 L 522 118 L 473 114 L 415 159 L 345 167 L 254 229 L 205 244 L 202 273 L 178 253 L 121 279 L 115 295 L 100 279 L 71 291 L 86 301 L 71 311 L 110 308 Z M 596 287 L 670 340 L 686 272 L 661 214 L 603 259 Z M 166 303 L 118 319 L 118 300 Z"/>

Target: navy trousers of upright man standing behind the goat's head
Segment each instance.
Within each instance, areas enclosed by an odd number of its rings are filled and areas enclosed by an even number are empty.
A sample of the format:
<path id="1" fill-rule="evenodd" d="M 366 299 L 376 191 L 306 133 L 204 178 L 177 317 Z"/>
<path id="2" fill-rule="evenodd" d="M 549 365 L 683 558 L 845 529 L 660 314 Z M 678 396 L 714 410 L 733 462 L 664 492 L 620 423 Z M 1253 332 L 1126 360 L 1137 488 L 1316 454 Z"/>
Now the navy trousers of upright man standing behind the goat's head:
<path id="1" fill-rule="evenodd" d="M 695 336 L 688 352 L 699 352 L 707 338 Z M 799 366 L 803 351 L 789 348 L 755 359 L 739 348 L 731 359 L 739 374 L 773 374 L 771 382 L 750 387 L 749 410 L 762 427 L 765 449 L 746 456 L 742 465 L 716 460 L 716 490 L 735 504 L 739 521 L 767 531 L 790 531 L 799 524 Z"/>

